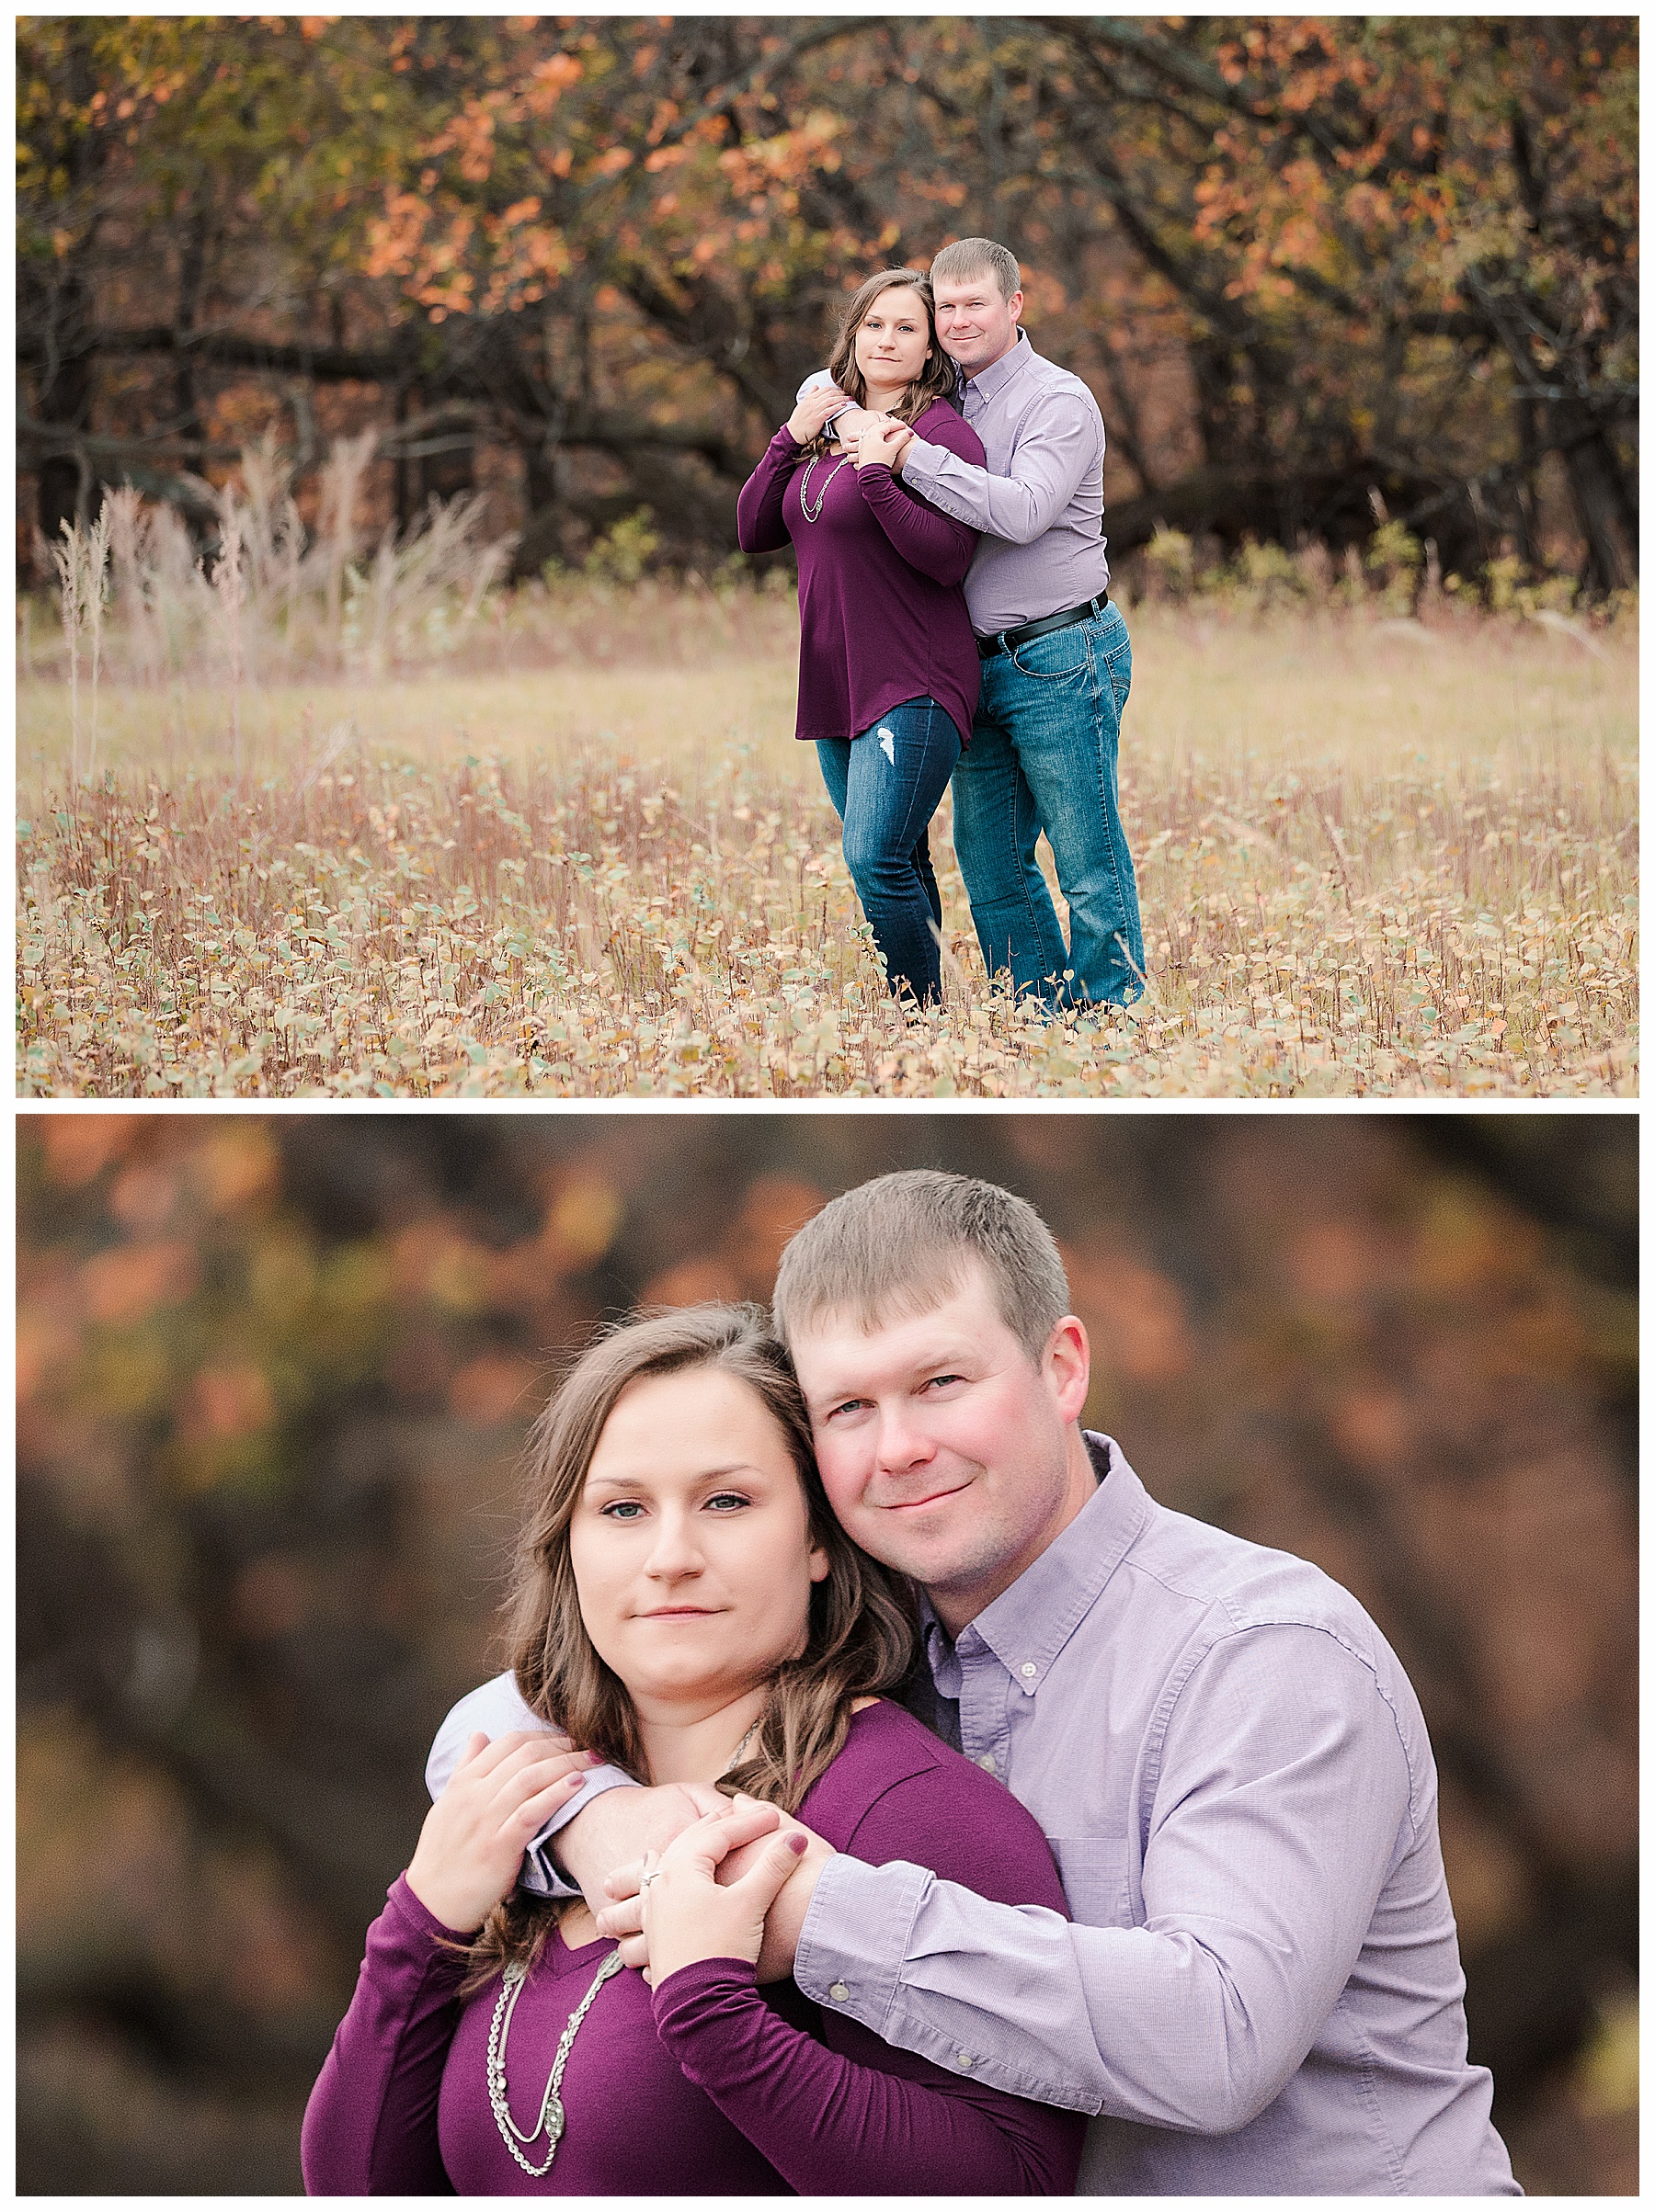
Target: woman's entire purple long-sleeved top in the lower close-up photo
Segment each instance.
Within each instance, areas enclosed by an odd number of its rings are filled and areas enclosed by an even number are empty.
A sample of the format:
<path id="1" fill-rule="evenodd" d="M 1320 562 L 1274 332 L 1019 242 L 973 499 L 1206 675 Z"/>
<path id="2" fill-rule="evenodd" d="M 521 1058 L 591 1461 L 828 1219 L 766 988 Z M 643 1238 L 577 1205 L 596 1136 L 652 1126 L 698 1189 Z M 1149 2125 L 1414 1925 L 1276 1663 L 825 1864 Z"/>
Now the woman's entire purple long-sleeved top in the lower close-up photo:
<path id="1" fill-rule="evenodd" d="M 870 1863 L 923 1858 L 1007 1905 L 1062 1911 L 1040 1829 L 1007 1790 L 898 1705 L 852 1719 L 801 1818 Z M 792 1982 L 754 1986 L 743 1960 L 704 1960 L 650 1993 L 604 1984 L 571 2046 L 566 2132 L 540 2181 L 509 2154 L 487 2095 L 491 1982 L 396 1880 L 303 2132 L 314 2197 L 449 2194 L 1069 2194 L 1082 2124 L 821 2015 Z M 509 2104 L 529 2128 L 569 2015 L 611 1944 L 560 1936 L 522 1986 Z M 527 2146 L 533 2163 L 544 2139 Z"/>

